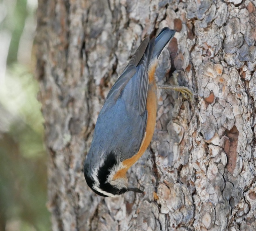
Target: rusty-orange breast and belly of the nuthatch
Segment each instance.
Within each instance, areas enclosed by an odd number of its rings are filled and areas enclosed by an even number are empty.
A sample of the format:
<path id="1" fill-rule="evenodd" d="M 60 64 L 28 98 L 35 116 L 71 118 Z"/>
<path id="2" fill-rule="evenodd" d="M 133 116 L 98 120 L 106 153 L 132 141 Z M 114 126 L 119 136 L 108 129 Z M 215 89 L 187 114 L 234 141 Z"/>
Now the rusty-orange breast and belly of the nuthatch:
<path id="1" fill-rule="evenodd" d="M 120 178 L 120 177 L 125 177 L 127 170 L 143 155 L 143 153 L 147 150 L 148 145 L 152 140 L 155 126 L 156 126 L 156 110 L 157 110 L 156 81 L 154 78 L 156 64 L 157 62 L 150 65 L 150 69 L 148 70 L 148 96 L 147 96 L 147 104 L 146 104 L 146 108 L 148 110 L 148 121 L 147 121 L 145 137 L 140 145 L 140 149 L 137 152 L 137 154 L 123 161 L 123 165 L 125 167 L 116 172 L 116 174 L 113 177 L 113 180 L 116 180 L 117 178 Z"/>

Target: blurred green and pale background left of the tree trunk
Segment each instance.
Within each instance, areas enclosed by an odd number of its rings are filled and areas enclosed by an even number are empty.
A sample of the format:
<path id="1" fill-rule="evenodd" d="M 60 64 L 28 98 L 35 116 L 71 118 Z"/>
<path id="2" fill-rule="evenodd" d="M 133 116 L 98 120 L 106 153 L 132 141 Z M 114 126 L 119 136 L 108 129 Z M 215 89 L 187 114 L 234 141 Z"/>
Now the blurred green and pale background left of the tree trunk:
<path id="1" fill-rule="evenodd" d="M 0 231 L 51 230 L 34 77 L 37 0 L 0 0 Z"/>

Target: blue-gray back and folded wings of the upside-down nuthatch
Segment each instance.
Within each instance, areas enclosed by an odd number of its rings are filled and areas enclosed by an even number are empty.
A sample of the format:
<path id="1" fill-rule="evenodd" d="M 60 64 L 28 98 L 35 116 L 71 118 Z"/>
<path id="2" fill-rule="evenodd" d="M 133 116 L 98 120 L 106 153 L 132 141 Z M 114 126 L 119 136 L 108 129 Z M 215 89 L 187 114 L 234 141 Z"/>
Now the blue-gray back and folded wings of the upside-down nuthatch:
<path id="1" fill-rule="evenodd" d="M 115 152 L 120 161 L 135 155 L 145 135 L 148 111 L 148 64 L 152 55 L 146 38 L 110 89 L 95 125 L 92 152 Z M 107 150 L 106 150 L 107 149 Z"/>

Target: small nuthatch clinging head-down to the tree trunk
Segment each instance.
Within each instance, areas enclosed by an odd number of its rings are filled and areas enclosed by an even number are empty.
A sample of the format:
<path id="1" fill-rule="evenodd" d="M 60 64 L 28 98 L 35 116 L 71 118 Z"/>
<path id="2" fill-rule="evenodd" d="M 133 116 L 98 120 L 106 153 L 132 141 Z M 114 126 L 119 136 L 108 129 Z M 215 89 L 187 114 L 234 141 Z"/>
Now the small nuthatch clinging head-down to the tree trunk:
<path id="1" fill-rule="evenodd" d="M 117 197 L 128 191 L 143 193 L 129 186 L 126 172 L 152 140 L 157 111 L 157 58 L 175 32 L 164 27 L 156 37 L 143 40 L 100 110 L 84 160 L 85 180 L 100 196 Z M 161 88 L 190 94 L 186 87 Z"/>

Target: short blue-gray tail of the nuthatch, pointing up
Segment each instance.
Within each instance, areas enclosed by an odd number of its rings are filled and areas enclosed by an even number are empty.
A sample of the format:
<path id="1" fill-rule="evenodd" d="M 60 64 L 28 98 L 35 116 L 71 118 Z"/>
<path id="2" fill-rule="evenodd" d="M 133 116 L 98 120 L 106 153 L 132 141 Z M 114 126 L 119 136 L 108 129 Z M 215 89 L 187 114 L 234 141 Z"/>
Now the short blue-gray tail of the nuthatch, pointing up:
<path id="1" fill-rule="evenodd" d="M 157 35 L 154 45 L 154 50 L 152 54 L 152 58 L 159 57 L 162 50 L 166 46 L 166 44 L 173 38 L 175 35 L 175 30 L 171 30 L 168 27 L 164 27 L 160 33 Z"/>

